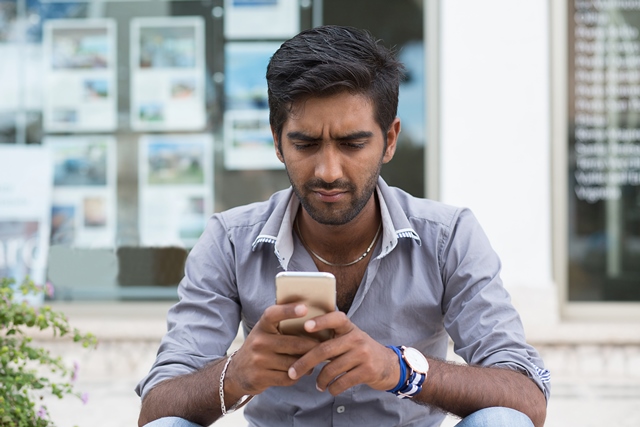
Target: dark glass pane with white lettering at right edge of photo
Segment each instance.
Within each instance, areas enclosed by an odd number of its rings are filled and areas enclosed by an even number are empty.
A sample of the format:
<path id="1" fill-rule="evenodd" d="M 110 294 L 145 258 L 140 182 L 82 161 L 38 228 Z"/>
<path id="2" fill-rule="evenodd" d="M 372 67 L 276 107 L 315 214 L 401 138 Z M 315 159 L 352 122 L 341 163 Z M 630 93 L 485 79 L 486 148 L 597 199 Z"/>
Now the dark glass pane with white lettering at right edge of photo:
<path id="1" fill-rule="evenodd" d="M 640 7 L 569 3 L 569 300 L 640 301 Z"/>

